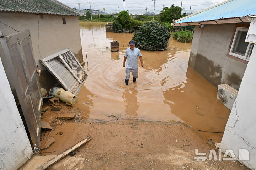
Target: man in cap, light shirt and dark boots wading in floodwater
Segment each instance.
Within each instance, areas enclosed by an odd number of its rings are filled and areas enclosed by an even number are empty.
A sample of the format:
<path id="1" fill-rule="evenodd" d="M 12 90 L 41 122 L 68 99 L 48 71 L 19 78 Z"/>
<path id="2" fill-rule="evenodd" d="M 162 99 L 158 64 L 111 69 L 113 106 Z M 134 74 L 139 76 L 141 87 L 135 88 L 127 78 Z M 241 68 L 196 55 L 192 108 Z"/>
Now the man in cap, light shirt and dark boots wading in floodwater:
<path id="1" fill-rule="evenodd" d="M 129 82 L 130 72 L 132 72 L 133 75 L 133 82 L 136 82 L 136 78 L 138 78 L 138 56 L 141 62 L 141 66 L 142 68 L 144 68 L 142 55 L 140 53 L 140 50 L 138 48 L 135 48 L 135 42 L 131 40 L 129 42 L 129 45 L 130 48 L 126 49 L 123 63 L 123 67 L 125 67 L 125 62 L 127 59 L 126 76 L 124 78 L 126 85 L 128 85 Z"/>

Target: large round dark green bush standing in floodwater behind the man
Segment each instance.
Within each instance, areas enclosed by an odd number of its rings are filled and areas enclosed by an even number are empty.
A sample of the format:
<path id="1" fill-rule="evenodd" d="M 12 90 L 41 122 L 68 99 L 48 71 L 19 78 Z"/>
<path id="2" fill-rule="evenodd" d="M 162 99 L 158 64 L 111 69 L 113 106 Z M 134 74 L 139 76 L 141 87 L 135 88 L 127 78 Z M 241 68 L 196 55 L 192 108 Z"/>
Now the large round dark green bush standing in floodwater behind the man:
<path id="1" fill-rule="evenodd" d="M 158 31 L 162 30 L 162 31 Z M 148 51 L 164 51 L 168 49 L 170 33 L 166 24 L 157 21 L 146 22 L 134 33 L 132 40 L 136 47 Z"/>

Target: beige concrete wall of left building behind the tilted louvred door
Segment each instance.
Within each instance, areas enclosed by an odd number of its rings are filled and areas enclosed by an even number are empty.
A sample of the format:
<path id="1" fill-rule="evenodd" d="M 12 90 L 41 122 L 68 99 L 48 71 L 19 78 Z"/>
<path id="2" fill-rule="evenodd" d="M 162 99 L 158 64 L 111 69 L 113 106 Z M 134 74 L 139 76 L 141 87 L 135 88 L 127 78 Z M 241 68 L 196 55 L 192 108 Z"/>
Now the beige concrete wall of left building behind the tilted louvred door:
<path id="1" fill-rule="evenodd" d="M 0 18 L 3 23 L 18 31 L 30 30 L 35 61 L 41 70 L 39 80 L 42 88 L 51 88 L 57 80 L 39 62 L 39 59 L 70 48 L 78 61 L 83 62 L 78 16 L 6 12 L 0 13 Z M 62 18 L 66 18 L 66 24 L 63 24 Z M 17 33 L 12 28 L 0 23 L 0 31 L 4 35 Z"/>

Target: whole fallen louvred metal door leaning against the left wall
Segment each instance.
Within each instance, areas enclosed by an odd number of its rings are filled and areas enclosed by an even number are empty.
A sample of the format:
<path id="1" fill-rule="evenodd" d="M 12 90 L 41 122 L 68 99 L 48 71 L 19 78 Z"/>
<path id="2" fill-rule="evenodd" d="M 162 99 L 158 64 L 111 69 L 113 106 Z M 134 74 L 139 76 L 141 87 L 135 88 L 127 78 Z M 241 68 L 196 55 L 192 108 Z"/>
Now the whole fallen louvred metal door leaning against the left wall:
<path id="1" fill-rule="evenodd" d="M 70 49 L 60 51 L 40 61 L 59 83 L 74 95 L 79 92 L 88 76 Z"/>

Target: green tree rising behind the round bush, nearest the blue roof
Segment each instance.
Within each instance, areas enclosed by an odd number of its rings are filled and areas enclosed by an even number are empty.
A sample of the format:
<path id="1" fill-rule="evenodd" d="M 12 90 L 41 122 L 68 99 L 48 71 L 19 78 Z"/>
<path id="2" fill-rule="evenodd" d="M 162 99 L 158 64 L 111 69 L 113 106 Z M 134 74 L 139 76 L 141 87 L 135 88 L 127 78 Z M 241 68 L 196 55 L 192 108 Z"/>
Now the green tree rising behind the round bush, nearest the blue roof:
<path id="1" fill-rule="evenodd" d="M 182 8 L 178 6 L 172 5 L 170 8 L 164 7 L 162 11 L 160 11 L 158 20 L 164 23 L 173 23 L 173 20 L 177 20 L 182 17 L 181 15 Z"/>

